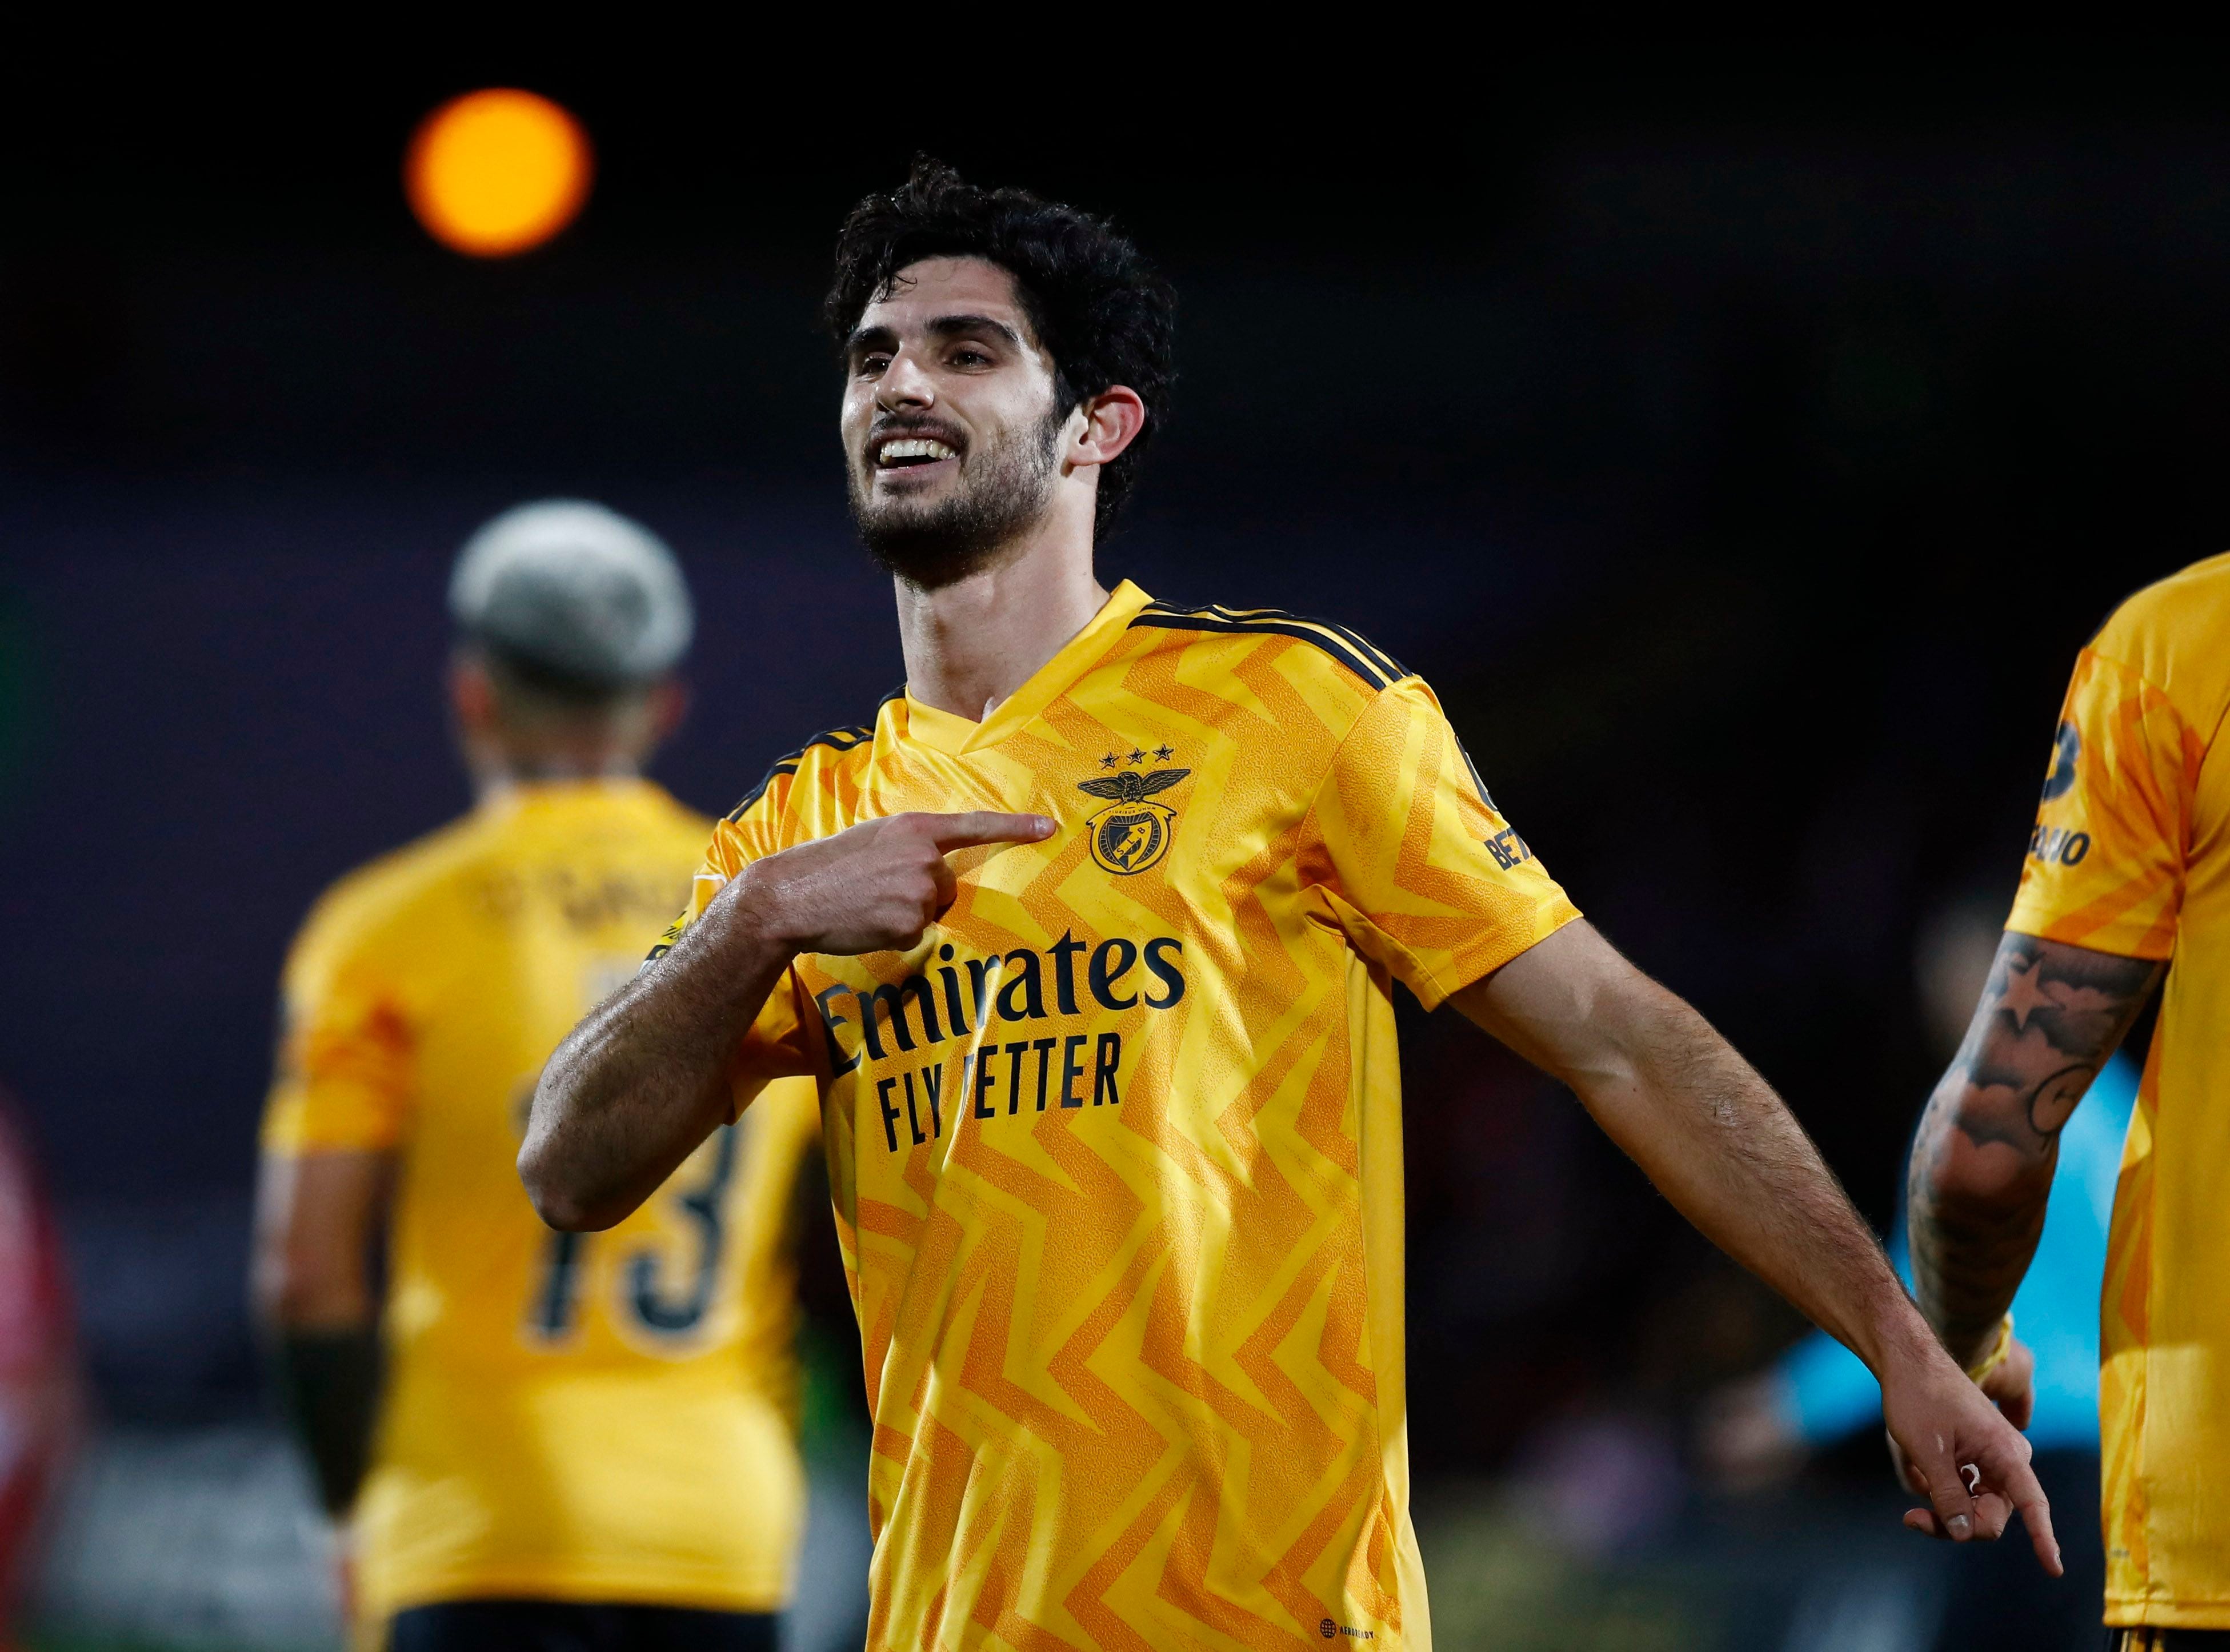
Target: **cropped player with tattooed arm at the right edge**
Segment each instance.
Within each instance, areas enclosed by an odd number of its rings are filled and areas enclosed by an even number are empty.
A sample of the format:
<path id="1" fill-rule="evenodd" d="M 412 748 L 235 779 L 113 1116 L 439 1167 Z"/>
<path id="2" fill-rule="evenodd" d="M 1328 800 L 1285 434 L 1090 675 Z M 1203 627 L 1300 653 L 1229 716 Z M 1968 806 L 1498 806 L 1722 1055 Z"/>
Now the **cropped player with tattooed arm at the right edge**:
<path id="1" fill-rule="evenodd" d="M 2121 604 L 2076 660 L 2020 892 L 1911 1159 L 1913 1280 L 2027 1420 L 2007 1304 L 2061 1128 L 2165 974 L 2101 1300 L 2105 1621 L 2230 1645 L 2230 555 Z"/>

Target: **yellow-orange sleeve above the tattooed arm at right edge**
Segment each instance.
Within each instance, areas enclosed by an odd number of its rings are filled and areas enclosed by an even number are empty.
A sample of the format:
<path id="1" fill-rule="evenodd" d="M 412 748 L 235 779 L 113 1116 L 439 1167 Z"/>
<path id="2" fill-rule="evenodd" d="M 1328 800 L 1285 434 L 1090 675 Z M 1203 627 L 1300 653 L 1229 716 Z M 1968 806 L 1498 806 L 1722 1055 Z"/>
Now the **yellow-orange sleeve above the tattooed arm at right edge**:
<path id="1" fill-rule="evenodd" d="M 2110 622 L 2103 640 L 2112 638 Z M 2168 693 L 2101 651 L 2076 660 L 2009 930 L 2165 959 L 2176 945 L 2205 745 Z"/>

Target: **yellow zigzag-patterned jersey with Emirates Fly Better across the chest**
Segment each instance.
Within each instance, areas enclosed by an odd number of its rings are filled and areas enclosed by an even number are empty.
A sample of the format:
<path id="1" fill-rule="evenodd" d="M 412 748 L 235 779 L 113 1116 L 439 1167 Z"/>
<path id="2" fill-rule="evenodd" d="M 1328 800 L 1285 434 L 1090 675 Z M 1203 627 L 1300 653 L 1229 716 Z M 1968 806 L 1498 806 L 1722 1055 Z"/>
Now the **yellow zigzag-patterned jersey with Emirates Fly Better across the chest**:
<path id="1" fill-rule="evenodd" d="M 954 854 L 903 956 L 798 959 L 736 1072 L 825 1086 L 870 1645 L 1427 1648 L 1387 994 L 1572 905 L 1387 655 L 1131 584 L 981 725 L 892 696 L 776 765 L 691 916 L 908 809 L 1059 829 Z"/>

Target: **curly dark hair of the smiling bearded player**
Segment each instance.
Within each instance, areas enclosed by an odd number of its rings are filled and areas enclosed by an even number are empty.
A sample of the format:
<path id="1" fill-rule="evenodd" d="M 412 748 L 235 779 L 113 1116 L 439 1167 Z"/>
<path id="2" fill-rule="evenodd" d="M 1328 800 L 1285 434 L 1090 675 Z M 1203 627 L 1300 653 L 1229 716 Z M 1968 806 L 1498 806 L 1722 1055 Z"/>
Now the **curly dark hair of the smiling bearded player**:
<path id="1" fill-rule="evenodd" d="M 983 259 L 1015 279 L 1015 299 L 1053 357 L 1055 406 L 1075 408 L 1117 383 L 1137 390 L 1146 426 L 1099 470 L 1095 526 L 1104 533 L 1169 421 L 1175 292 L 1106 218 L 1028 190 L 981 190 L 923 154 L 903 190 L 863 198 L 836 234 L 821 319 L 838 350 L 899 270 L 921 259 Z"/>

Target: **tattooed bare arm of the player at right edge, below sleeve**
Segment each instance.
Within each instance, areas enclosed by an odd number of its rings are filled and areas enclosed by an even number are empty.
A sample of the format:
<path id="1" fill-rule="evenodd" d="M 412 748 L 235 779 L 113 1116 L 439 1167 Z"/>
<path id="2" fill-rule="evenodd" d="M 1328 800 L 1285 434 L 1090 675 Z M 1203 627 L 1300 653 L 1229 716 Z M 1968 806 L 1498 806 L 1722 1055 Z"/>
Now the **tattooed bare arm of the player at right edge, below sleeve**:
<path id="1" fill-rule="evenodd" d="M 1989 1351 L 2045 1226 L 2061 1126 L 2165 965 L 2011 930 L 1913 1139 L 1913 1291 L 1962 1364 Z"/>

